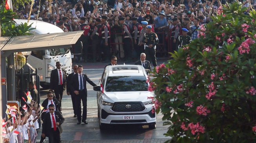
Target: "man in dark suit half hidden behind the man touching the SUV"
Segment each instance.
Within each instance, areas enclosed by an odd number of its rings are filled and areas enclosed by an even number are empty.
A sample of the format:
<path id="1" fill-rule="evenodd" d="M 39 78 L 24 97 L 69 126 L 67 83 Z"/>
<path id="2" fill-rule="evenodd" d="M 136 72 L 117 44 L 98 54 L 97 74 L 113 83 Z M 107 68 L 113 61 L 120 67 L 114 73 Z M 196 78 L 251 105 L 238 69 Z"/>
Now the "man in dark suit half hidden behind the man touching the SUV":
<path id="1" fill-rule="evenodd" d="M 70 91 L 69 82 L 70 82 L 72 76 L 78 72 L 78 65 L 74 65 L 73 70 L 74 70 L 74 72 L 69 74 L 69 76 L 67 77 L 67 95 L 71 95 L 71 100 L 72 100 L 72 105 L 73 105 L 73 110 L 74 110 L 74 117 L 76 117 L 76 102 L 75 102 L 76 94 L 74 94 L 73 92 Z"/>

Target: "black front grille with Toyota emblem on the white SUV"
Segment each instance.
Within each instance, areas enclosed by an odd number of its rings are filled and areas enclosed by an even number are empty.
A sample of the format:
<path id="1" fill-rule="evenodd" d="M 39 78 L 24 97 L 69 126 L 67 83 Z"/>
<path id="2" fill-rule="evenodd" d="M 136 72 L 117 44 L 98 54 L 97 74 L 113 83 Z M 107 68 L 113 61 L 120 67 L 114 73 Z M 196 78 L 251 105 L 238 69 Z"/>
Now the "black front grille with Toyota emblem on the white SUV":
<path id="1" fill-rule="evenodd" d="M 127 108 L 130 105 L 130 108 Z M 145 106 L 142 102 L 116 102 L 111 108 L 114 112 L 142 112 Z"/>

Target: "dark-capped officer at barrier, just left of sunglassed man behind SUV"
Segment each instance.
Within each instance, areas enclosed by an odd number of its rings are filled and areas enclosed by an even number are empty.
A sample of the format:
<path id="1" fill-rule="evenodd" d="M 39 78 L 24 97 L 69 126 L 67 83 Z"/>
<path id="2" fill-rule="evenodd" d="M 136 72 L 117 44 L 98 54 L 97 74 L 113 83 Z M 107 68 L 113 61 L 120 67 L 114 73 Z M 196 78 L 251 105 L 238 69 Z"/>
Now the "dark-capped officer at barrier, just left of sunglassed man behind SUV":
<path id="1" fill-rule="evenodd" d="M 103 61 L 103 63 L 108 63 L 109 57 L 110 57 L 110 50 L 109 50 L 110 27 L 109 27 L 109 24 L 107 23 L 107 16 L 103 15 L 101 22 L 102 22 L 102 27 L 101 27 L 102 48 L 105 55 L 105 61 Z"/>

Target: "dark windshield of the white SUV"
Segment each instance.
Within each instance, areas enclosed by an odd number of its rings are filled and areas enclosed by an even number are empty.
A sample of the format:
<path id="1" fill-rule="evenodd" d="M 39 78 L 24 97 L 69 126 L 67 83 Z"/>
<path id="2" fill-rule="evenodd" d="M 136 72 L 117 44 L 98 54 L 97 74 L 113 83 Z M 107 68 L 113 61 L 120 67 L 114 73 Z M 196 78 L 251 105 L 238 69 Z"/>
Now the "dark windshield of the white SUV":
<path id="1" fill-rule="evenodd" d="M 144 76 L 107 77 L 106 92 L 147 91 L 149 87 Z"/>

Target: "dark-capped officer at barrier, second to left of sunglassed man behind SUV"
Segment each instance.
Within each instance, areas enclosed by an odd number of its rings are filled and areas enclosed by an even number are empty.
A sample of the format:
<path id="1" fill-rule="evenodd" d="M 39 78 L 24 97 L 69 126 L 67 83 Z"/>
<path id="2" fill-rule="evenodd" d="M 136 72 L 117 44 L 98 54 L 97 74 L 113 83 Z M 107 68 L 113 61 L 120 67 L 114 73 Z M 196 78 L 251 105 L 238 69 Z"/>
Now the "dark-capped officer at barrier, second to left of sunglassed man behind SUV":
<path id="1" fill-rule="evenodd" d="M 98 51 L 98 57 L 99 60 L 101 60 L 101 50 L 100 50 L 100 43 L 102 40 L 102 33 L 101 33 L 101 20 L 100 18 L 96 18 L 95 19 L 95 27 L 93 30 L 93 33 L 91 35 L 91 39 L 92 39 L 92 50 L 93 50 L 93 63 L 96 62 L 96 54 Z"/>

